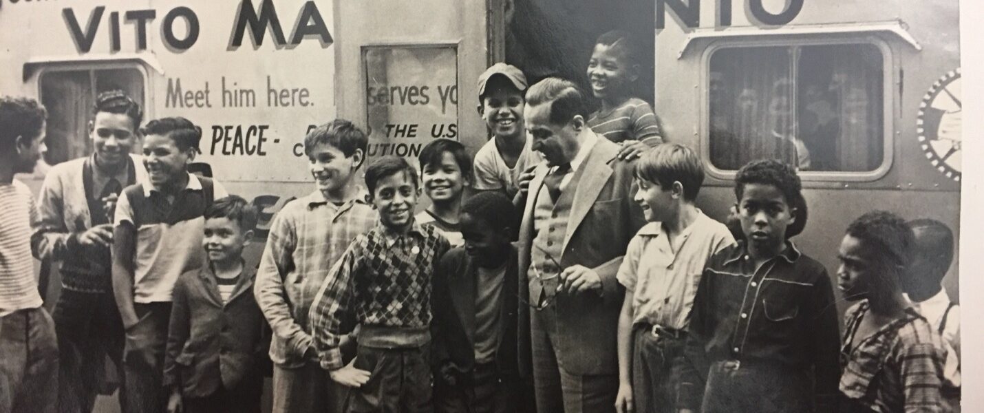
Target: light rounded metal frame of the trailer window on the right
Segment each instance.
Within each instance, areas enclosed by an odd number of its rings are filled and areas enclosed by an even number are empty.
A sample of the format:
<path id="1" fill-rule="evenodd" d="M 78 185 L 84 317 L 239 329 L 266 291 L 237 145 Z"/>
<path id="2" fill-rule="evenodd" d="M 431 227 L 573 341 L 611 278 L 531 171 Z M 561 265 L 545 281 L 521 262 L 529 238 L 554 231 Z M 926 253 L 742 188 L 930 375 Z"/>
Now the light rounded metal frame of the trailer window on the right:
<path id="1" fill-rule="evenodd" d="M 802 47 L 823 45 L 873 45 L 882 53 L 882 119 L 883 119 L 883 157 L 882 162 L 870 171 L 799 171 L 800 179 L 804 182 L 873 182 L 885 177 L 892 170 L 894 159 L 895 117 L 897 99 L 892 96 L 895 81 L 894 56 L 892 47 L 882 38 L 873 35 L 846 35 L 838 38 L 826 38 L 801 35 L 787 38 L 752 38 L 736 36 L 734 38 L 719 38 L 707 44 L 701 54 L 700 85 L 703 86 L 699 95 L 701 156 L 707 160 L 707 174 L 722 180 L 733 180 L 737 170 L 721 169 L 713 164 L 710 158 L 710 58 L 720 49 L 736 49 L 750 47 Z M 795 72 L 794 72 L 795 73 Z"/>

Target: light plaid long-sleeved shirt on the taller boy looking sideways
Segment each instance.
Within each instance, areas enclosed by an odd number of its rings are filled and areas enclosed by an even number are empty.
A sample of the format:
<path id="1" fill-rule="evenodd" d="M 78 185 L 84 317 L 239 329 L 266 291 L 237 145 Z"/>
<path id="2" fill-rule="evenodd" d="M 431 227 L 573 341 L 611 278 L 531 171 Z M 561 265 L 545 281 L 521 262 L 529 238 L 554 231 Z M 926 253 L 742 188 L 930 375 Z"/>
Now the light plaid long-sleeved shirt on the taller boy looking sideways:
<path id="1" fill-rule="evenodd" d="M 341 207 L 320 191 L 292 201 L 277 213 L 256 275 L 256 299 L 274 330 L 270 358 L 299 367 L 311 347 L 308 309 L 329 270 L 356 236 L 379 221 L 362 195 Z"/>

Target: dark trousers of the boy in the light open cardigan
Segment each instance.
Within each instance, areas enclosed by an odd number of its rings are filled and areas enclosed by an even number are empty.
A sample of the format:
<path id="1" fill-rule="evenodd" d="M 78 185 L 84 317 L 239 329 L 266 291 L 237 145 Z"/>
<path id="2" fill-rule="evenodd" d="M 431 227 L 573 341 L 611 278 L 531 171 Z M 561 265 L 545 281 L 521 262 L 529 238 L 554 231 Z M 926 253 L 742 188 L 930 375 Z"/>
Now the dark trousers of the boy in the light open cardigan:
<path id="1" fill-rule="evenodd" d="M 91 412 L 104 383 L 105 358 L 116 367 L 120 399 L 123 379 L 123 322 L 112 293 L 62 289 L 52 315 L 58 333 L 58 411 Z"/>

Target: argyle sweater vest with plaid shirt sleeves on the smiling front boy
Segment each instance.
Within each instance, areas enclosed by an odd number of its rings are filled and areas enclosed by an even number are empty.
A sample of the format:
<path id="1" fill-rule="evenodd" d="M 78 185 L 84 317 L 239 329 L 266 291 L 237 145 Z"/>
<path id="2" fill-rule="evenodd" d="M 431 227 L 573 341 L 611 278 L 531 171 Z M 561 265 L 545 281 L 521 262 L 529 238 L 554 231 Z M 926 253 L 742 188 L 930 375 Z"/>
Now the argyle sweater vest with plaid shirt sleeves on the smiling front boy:
<path id="1" fill-rule="evenodd" d="M 427 328 L 431 279 L 450 248 L 437 229 L 416 222 L 406 234 L 380 224 L 355 238 L 311 306 L 322 367 L 342 367 L 341 335 L 355 324 Z"/>

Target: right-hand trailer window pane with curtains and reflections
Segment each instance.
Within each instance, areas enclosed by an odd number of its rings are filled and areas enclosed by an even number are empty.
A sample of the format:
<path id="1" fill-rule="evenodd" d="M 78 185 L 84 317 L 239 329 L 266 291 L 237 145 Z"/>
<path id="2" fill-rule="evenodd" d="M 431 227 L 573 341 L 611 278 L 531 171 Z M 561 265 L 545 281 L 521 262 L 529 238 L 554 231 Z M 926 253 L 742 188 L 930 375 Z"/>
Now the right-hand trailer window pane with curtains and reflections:
<path id="1" fill-rule="evenodd" d="M 725 47 L 710 55 L 710 161 L 777 158 L 868 172 L 885 152 L 884 62 L 872 44 Z"/>

